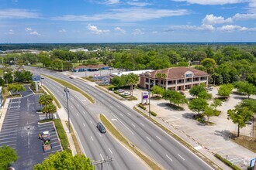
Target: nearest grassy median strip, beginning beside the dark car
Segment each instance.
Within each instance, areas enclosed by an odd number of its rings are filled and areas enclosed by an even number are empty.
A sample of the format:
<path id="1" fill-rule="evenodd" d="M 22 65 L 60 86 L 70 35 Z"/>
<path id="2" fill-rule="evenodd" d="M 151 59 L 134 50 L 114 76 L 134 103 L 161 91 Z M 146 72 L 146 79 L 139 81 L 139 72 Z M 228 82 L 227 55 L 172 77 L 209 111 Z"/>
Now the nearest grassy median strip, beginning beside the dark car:
<path id="1" fill-rule="evenodd" d="M 124 145 L 126 145 L 128 148 L 130 148 L 137 156 L 139 156 L 147 165 L 150 166 L 152 169 L 161 169 L 159 165 L 157 165 L 155 162 L 151 160 L 147 155 L 139 151 L 134 145 L 132 145 L 129 141 L 126 140 L 126 138 L 123 137 L 123 135 L 116 130 L 116 128 L 110 123 L 110 121 L 107 120 L 107 118 L 103 115 L 99 115 L 100 120 L 105 125 L 105 127 L 109 130 L 111 134 L 113 134 L 119 141 L 121 141 Z"/>

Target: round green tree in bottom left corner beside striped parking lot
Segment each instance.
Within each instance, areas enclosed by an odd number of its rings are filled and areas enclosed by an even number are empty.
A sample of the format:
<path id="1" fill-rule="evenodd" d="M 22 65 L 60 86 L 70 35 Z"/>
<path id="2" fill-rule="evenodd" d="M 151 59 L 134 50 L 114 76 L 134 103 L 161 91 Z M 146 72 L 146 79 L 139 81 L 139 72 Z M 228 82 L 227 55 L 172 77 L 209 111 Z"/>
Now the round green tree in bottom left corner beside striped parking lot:
<path id="1" fill-rule="evenodd" d="M 0 169 L 7 169 L 17 159 L 18 155 L 13 148 L 9 146 L 0 147 Z"/>

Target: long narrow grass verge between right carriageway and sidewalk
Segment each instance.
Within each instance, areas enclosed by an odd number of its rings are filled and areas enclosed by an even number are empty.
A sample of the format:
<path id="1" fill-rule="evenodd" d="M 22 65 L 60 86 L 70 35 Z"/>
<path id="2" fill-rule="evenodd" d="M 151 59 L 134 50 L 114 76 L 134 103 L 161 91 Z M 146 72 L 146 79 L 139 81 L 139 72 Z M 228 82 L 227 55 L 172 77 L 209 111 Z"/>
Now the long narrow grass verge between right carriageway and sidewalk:
<path id="1" fill-rule="evenodd" d="M 158 123 L 157 121 L 154 121 L 153 118 L 148 117 L 147 114 L 144 114 L 143 111 L 137 109 L 137 107 L 133 107 L 133 110 L 136 110 L 137 113 L 143 115 L 144 117 L 146 117 L 149 121 L 151 121 L 152 123 L 154 123 L 155 125 L 157 125 L 157 127 L 161 128 L 163 131 L 165 131 L 166 133 L 170 134 L 173 138 L 175 138 L 177 141 L 179 141 L 180 143 L 182 143 L 182 145 L 185 145 L 187 148 L 189 148 L 191 151 L 193 151 L 196 155 L 199 156 L 199 158 L 202 158 L 202 160 L 204 160 L 205 162 L 207 162 L 209 165 L 211 165 L 214 169 L 222 169 L 220 168 L 218 165 L 216 165 L 214 162 L 212 162 L 209 158 L 206 158 L 205 155 L 202 155 L 201 152 L 197 151 L 195 148 L 193 148 L 191 145 L 189 145 L 186 141 L 184 141 L 182 138 L 180 138 L 177 134 L 174 134 L 173 132 L 171 132 L 168 128 L 165 128 L 162 124 Z"/>

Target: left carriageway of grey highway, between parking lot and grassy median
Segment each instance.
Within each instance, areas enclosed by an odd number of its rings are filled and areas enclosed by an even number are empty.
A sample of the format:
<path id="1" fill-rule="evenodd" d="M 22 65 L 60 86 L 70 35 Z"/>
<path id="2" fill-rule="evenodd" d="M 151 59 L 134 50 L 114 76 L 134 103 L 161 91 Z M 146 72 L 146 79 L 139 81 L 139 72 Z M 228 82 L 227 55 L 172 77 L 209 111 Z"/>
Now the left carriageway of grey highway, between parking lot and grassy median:
<path id="1" fill-rule="evenodd" d="M 66 107 L 66 97 L 64 95 L 64 87 L 45 77 L 43 86 L 50 89 L 54 96 Z M 70 90 L 69 108 L 71 112 L 71 122 L 75 131 L 78 133 L 81 145 L 85 151 L 85 155 L 94 161 L 103 158 L 112 158 L 113 161 L 103 165 L 103 169 L 147 169 L 147 166 L 127 151 L 116 139 L 107 132 L 101 134 L 96 128 L 99 122 L 99 114 L 101 109 L 90 110 L 89 102 L 80 93 Z M 100 165 L 96 165 L 100 169 Z"/>

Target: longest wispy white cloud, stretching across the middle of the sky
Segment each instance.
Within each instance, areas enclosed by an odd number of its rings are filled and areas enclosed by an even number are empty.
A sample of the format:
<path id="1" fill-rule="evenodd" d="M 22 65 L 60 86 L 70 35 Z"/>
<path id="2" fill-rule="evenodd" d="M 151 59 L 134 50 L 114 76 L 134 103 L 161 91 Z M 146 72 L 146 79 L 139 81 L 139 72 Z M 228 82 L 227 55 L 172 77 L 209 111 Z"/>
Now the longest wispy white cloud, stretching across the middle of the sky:
<path id="1" fill-rule="evenodd" d="M 115 8 L 110 10 L 110 12 L 96 15 L 63 15 L 52 19 L 64 21 L 99 21 L 103 19 L 112 19 L 122 22 L 137 22 L 188 14 L 189 11 L 186 9 Z"/>

